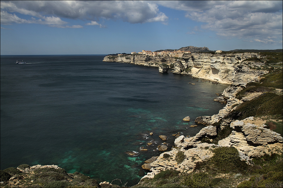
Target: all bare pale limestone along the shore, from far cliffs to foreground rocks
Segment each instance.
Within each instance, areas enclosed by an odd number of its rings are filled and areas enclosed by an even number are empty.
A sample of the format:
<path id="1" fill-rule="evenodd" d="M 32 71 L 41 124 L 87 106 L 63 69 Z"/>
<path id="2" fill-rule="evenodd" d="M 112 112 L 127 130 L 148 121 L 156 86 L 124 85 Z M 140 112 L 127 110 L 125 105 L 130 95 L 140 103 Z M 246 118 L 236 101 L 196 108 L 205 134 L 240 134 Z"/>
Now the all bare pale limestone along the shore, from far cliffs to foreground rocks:
<path id="1" fill-rule="evenodd" d="M 255 99 L 263 93 L 262 91 L 251 92 L 247 93 L 241 99 L 236 98 L 237 94 L 246 87 L 247 83 L 259 81 L 261 75 L 268 73 L 267 70 L 260 68 L 265 64 L 264 62 L 244 61 L 257 57 L 260 57 L 257 53 L 240 53 L 236 55 L 192 53 L 191 57 L 187 57 L 187 59 L 176 60 L 175 58 L 168 57 L 162 60 L 163 62 L 159 62 L 161 60 L 160 57 L 156 59 L 151 58 L 150 61 L 147 60 L 146 62 L 146 57 L 138 57 L 136 55 L 125 55 L 114 58 L 106 56 L 104 58 L 103 61 L 108 62 L 127 62 L 136 65 L 159 67 L 159 72 L 162 72 L 160 70 L 161 64 L 163 64 L 163 68 L 167 68 L 165 65 L 170 67 L 173 63 L 174 71 L 172 73 L 191 75 L 195 78 L 230 84 L 222 94 L 219 94 L 219 97 L 214 99 L 214 101 L 225 103 L 225 107 L 219 110 L 219 113 L 216 115 L 196 118 L 194 120 L 196 123 L 206 125 L 196 136 L 187 137 L 185 135 L 175 134 L 174 147 L 170 151 L 167 151 L 166 144 L 159 145 L 159 151 L 165 152 L 144 161 L 142 168 L 150 172 L 142 177 L 142 179 L 152 179 L 156 174 L 168 169 L 174 169 L 181 173 L 191 173 L 194 171 L 198 162 L 202 162 L 213 156 L 213 149 L 215 147 L 235 147 L 239 152 L 241 160 L 246 161 L 248 164 L 251 164 L 252 158 L 262 156 L 266 153 L 282 153 L 283 138 L 280 134 L 267 128 L 264 124 L 266 120 L 252 116 L 243 120 L 233 120 L 228 116 L 232 110 L 236 109 L 237 105 Z M 282 95 L 282 89 L 277 91 Z M 187 116 L 183 120 L 189 121 L 190 118 Z M 225 128 L 230 129 L 231 133 L 229 136 L 219 139 L 216 144 L 212 143 L 219 132 Z M 160 135 L 159 137 L 163 141 L 166 141 L 165 135 Z M 141 150 L 143 149 L 141 148 Z M 136 155 L 135 152 L 128 152 L 127 154 L 133 157 Z M 182 154 L 182 160 L 179 160 L 180 154 Z M 60 169 L 56 165 L 36 165 L 24 169 L 18 168 L 18 170 L 31 172 L 38 168 Z M 66 181 L 70 182 L 73 180 L 72 178 L 78 177 L 74 174 L 70 174 L 69 176 L 71 178 Z M 9 182 L 12 182 L 10 184 L 11 186 L 21 187 L 19 186 L 21 180 L 18 177 L 10 177 Z M 109 182 L 101 182 L 100 184 L 96 182 L 98 187 L 102 187 L 102 184 L 111 185 Z"/>

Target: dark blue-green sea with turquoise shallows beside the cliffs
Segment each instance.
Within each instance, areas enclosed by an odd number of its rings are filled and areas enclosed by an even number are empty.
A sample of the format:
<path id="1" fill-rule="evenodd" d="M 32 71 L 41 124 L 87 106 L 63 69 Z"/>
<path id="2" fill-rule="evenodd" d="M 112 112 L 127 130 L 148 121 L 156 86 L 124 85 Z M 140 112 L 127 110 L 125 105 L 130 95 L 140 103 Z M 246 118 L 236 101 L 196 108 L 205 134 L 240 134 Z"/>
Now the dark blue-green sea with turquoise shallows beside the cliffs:
<path id="1" fill-rule="evenodd" d="M 227 84 L 105 56 L 1 55 L 1 170 L 58 165 L 133 186 L 149 172 L 144 161 L 162 153 L 158 145 L 171 150 L 172 134 L 195 136 L 205 126 L 194 119 L 224 107 L 213 99 Z"/>

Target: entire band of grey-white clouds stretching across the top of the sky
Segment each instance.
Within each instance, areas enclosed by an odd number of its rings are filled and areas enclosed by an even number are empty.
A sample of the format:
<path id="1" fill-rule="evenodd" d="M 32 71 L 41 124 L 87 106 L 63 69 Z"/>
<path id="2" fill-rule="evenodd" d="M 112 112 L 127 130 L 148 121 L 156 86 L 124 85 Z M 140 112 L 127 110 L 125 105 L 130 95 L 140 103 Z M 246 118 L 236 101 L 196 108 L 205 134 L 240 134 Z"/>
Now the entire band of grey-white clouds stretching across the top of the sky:
<path id="1" fill-rule="evenodd" d="M 161 22 L 169 17 L 158 7 L 179 10 L 189 20 L 202 23 L 198 29 L 214 31 L 221 38 L 243 38 L 250 42 L 282 43 L 283 1 L 1 1 L 1 25 L 34 23 L 58 28 L 67 19 L 99 26 L 101 20 L 131 24 Z M 186 24 L 186 23 L 184 23 Z M 187 33 L 197 34 L 191 30 Z"/>

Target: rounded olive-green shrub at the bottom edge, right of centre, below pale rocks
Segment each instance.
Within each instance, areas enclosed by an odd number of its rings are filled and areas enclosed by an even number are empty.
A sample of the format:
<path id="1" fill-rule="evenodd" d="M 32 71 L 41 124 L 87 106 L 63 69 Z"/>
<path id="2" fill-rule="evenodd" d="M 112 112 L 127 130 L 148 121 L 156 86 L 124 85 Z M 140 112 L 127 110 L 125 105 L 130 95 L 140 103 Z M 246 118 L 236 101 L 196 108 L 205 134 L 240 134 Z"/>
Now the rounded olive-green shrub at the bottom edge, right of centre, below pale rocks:
<path id="1" fill-rule="evenodd" d="M 211 178 L 207 173 L 190 173 L 183 181 L 188 187 L 210 187 L 212 185 Z"/>

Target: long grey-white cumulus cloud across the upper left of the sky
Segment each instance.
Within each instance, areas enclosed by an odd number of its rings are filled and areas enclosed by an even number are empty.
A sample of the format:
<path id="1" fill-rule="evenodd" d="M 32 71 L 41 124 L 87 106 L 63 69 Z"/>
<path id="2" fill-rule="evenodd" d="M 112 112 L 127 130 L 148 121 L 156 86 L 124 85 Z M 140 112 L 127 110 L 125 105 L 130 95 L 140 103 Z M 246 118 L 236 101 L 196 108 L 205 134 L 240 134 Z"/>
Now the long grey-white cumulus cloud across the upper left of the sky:
<path id="1" fill-rule="evenodd" d="M 37 17 L 38 23 L 47 25 L 67 25 L 62 18 L 90 21 L 86 25 L 97 25 L 95 23 L 100 19 L 123 20 L 133 24 L 166 23 L 168 19 L 151 1 L 1 1 L 1 11 Z M 13 19 L 1 15 L 1 24 L 34 22 L 21 20 L 16 15 Z"/>

